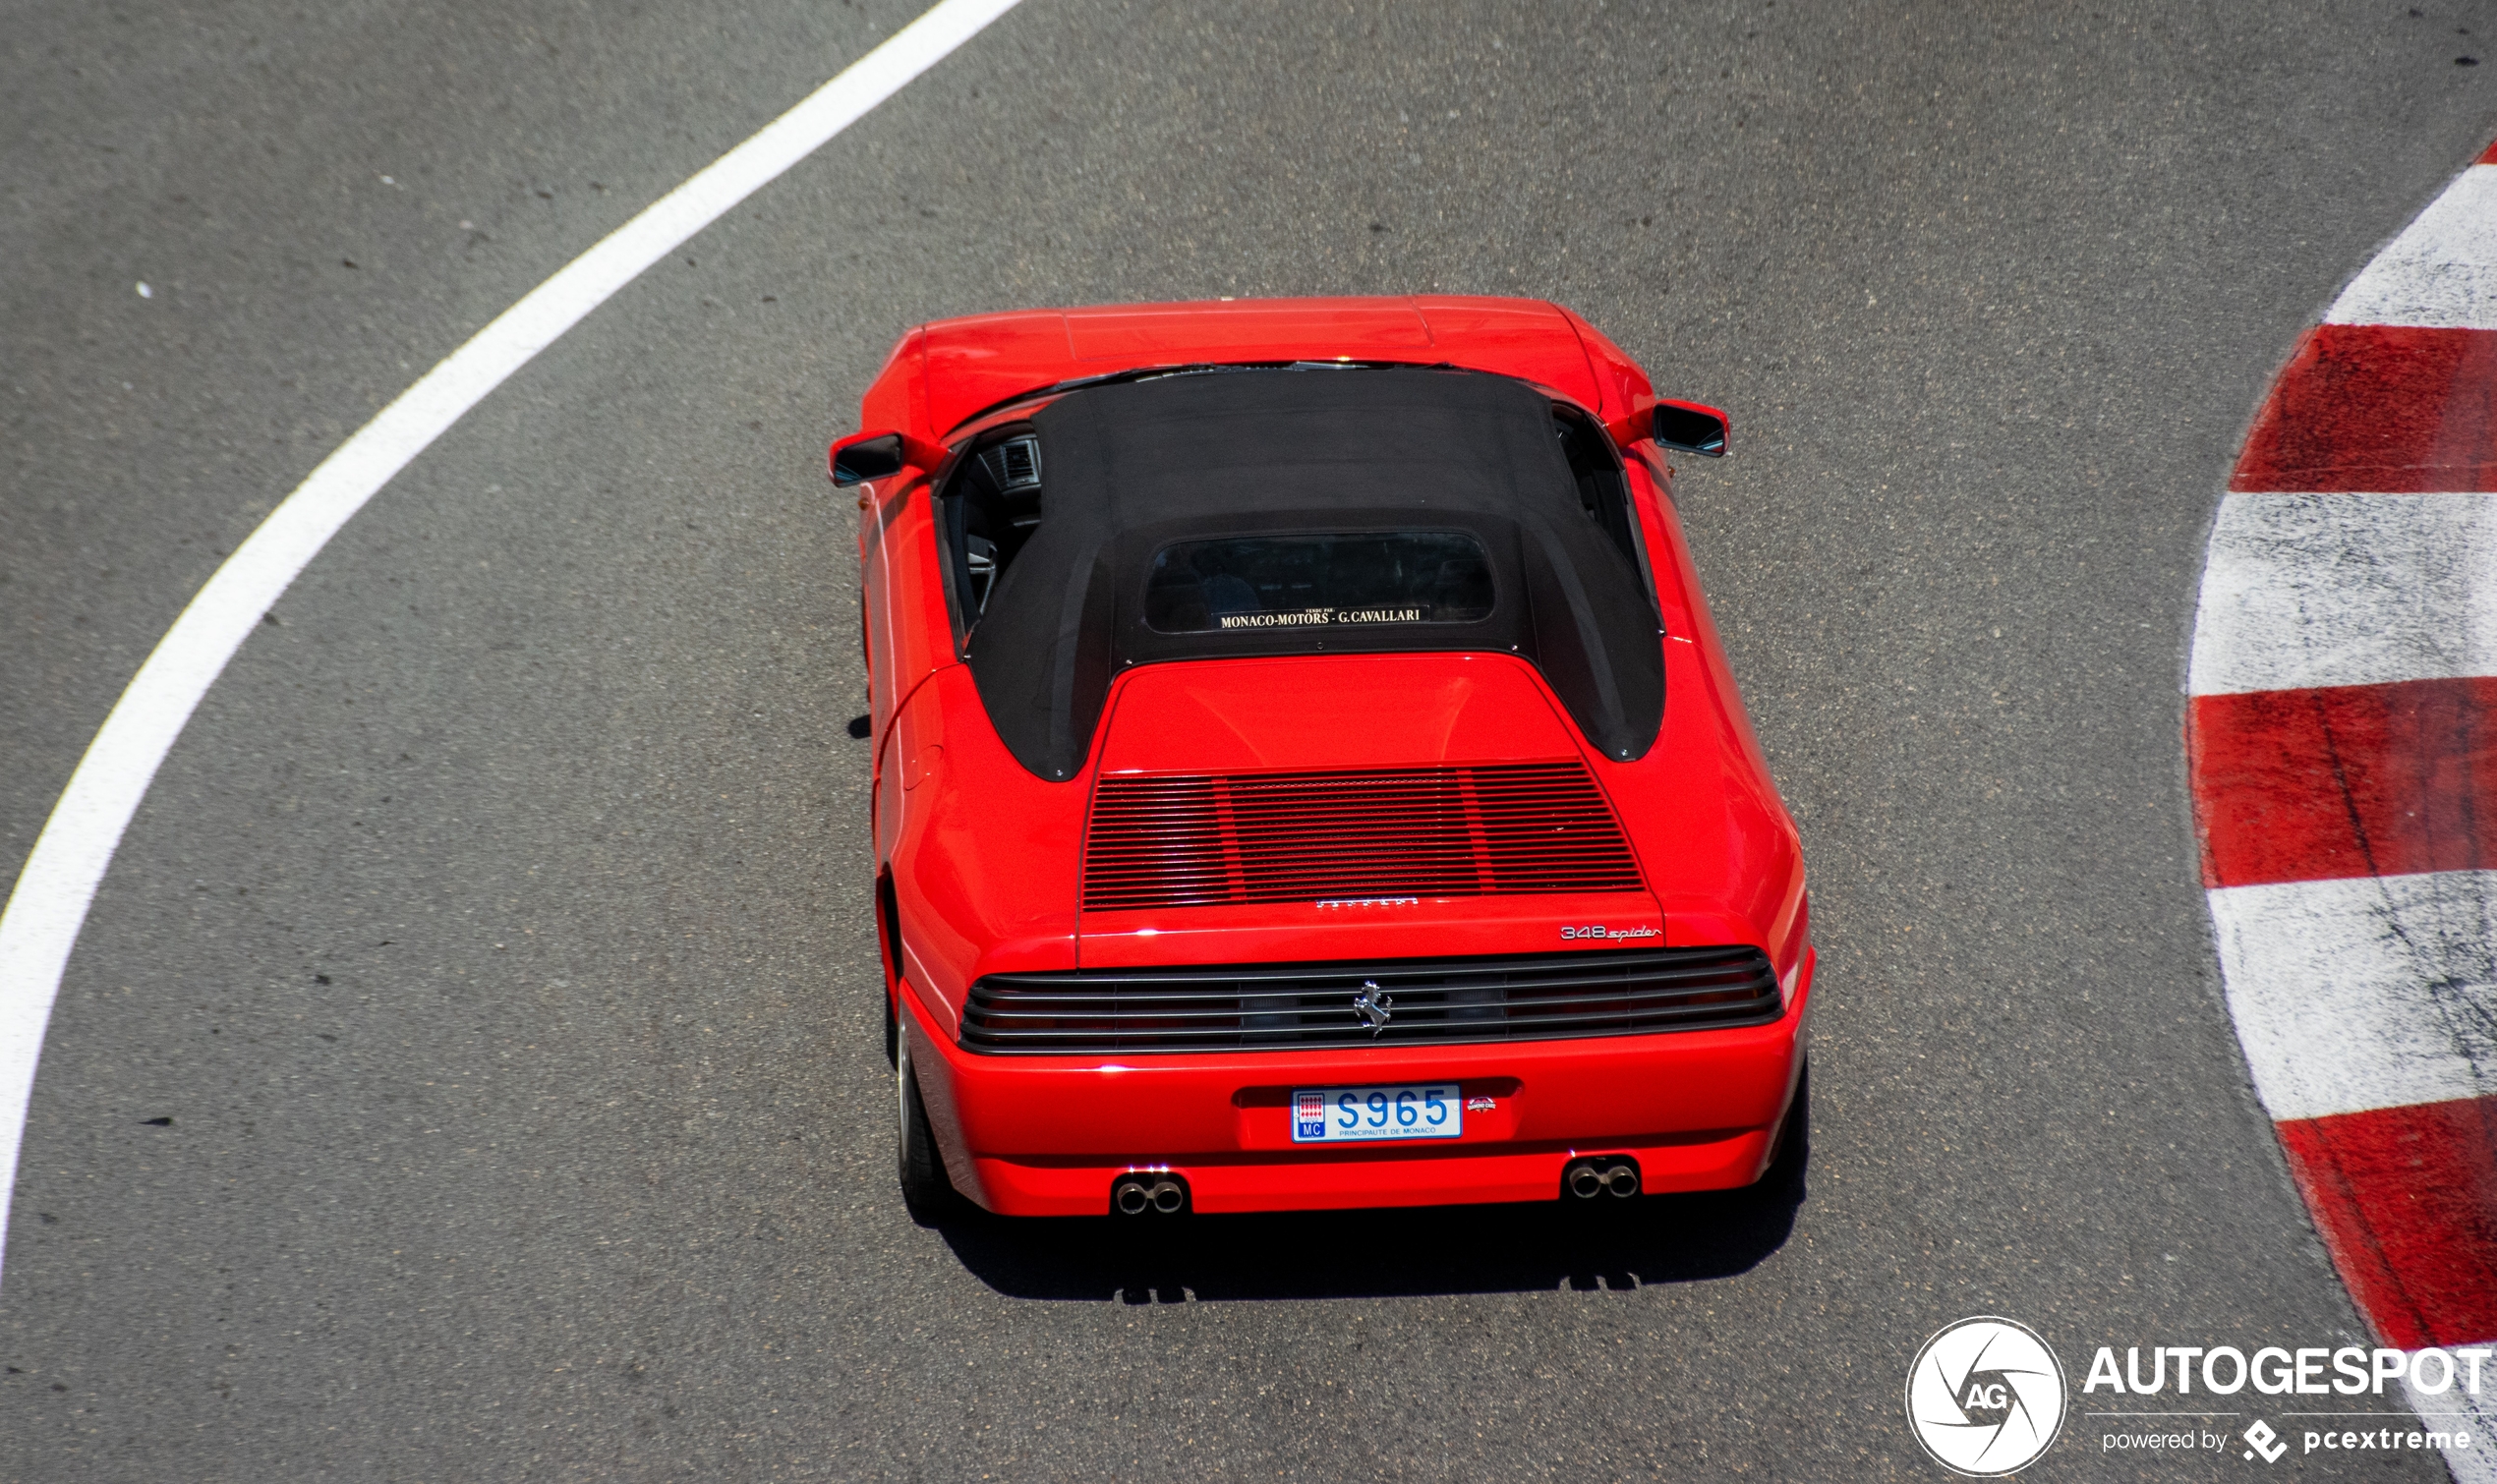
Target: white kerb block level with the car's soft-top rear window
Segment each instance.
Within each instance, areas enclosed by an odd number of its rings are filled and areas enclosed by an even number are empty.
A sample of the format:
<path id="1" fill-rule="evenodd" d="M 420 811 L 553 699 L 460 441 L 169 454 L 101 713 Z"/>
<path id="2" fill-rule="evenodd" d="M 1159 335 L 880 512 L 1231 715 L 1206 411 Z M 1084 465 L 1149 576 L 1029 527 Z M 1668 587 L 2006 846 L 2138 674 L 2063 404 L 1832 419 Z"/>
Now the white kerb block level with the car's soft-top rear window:
<path id="1" fill-rule="evenodd" d="M 2497 495 L 2220 502 L 2192 695 L 2465 675 L 2497 675 Z"/>

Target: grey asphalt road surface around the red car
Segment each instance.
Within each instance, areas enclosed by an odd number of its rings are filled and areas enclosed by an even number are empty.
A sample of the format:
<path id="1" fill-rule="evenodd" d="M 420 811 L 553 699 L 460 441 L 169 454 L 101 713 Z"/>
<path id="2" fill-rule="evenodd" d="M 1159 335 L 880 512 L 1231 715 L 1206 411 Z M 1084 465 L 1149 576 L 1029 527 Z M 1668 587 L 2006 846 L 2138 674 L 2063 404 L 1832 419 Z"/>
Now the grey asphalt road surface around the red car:
<path id="1" fill-rule="evenodd" d="M 0 872 L 340 437 L 909 15 L 10 5 Z M 2180 675 L 2237 437 L 2497 132 L 2492 32 L 1029 0 L 442 437 L 210 692 L 45 1044 L 0 1477 L 1930 1479 L 1900 1387 L 1963 1314 L 2068 1367 L 2365 1342 L 2220 1007 Z M 1813 867 L 1805 1182 L 914 1227 L 827 437 L 926 317 L 1403 290 L 1568 302 L 1735 415 L 1680 497 Z M 2028 1477 L 2242 1469 L 2082 1437 Z"/>

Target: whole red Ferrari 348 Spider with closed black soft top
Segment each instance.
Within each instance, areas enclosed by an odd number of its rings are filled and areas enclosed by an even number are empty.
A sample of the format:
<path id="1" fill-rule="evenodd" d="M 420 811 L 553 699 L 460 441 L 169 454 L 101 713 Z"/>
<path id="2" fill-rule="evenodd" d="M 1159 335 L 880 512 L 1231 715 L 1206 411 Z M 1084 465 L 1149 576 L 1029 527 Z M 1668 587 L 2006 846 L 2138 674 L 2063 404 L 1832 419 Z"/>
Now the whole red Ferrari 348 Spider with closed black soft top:
<path id="1" fill-rule="evenodd" d="M 861 412 L 916 1214 L 1770 1169 L 1803 852 L 1663 452 L 1720 412 L 1481 297 L 946 320 Z"/>

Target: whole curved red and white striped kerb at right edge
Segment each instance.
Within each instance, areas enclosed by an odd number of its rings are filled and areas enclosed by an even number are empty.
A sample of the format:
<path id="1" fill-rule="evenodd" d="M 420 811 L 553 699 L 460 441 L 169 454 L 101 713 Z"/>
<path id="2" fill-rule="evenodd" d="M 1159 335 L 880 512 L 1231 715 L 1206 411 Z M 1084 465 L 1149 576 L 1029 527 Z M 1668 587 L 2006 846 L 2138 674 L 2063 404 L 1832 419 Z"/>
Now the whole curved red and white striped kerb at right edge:
<path id="1" fill-rule="evenodd" d="M 2497 147 L 2297 345 L 2202 570 L 2187 757 L 2255 1092 L 2385 1344 L 2497 1344 Z M 2497 1484 L 2497 1389 L 2447 1462 Z"/>

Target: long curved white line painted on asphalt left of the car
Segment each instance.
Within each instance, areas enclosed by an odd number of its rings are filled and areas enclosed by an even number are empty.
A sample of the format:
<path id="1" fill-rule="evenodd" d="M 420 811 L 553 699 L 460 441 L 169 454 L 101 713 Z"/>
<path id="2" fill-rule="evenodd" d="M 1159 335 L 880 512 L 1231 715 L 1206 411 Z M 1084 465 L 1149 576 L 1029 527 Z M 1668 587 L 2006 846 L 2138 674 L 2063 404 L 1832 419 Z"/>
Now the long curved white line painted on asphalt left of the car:
<path id="1" fill-rule="evenodd" d="M 35 1059 L 95 887 L 157 764 L 260 615 L 382 485 L 644 267 L 941 62 L 1016 0 L 944 0 L 504 310 L 312 470 L 217 567 L 105 717 L 0 912 L 0 1237 Z"/>

